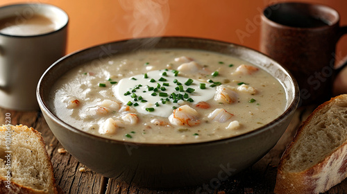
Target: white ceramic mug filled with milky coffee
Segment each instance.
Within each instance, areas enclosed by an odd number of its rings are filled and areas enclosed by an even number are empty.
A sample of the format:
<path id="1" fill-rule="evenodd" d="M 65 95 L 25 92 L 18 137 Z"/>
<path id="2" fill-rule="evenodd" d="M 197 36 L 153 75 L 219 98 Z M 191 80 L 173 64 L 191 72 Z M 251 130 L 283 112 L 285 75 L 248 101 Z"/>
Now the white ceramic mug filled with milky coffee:
<path id="1" fill-rule="evenodd" d="M 46 20 L 51 22 L 50 29 L 42 23 Z M 0 107 L 39 109 L 37 82 L 53 62 L 65 55 L 68 21 L 66 12 L 44 3 L 0 8 Z"/>

